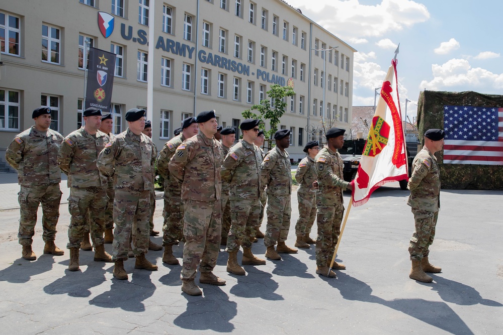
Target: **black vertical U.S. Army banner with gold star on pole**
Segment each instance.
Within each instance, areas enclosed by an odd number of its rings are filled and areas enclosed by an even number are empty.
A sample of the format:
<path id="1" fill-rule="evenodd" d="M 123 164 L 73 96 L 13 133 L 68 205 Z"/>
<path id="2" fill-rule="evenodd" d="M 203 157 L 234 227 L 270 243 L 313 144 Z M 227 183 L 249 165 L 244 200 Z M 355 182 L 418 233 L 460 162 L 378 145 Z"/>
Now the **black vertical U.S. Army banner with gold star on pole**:
<path id="1" fill-rule="evenodd" d="M 89 48 L 88 85 L 85 108 L 96 107 L 110 110 L 114 85 L 115 54 Z"/>

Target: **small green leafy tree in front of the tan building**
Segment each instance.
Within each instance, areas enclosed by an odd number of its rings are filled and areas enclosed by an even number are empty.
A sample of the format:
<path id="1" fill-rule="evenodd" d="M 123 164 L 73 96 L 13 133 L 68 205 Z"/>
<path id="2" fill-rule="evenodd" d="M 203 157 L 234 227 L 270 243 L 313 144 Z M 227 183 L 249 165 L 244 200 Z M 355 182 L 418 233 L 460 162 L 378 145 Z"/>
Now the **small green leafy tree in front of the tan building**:
<path id="1" fill-rule="evenodd" d="M 286 102 L 285 97 L 294 95 L 294 90 L 289 86 L 271 85 L 271 89 L 267 91 L 269 99 L 260 101 L 260 104 L 254 104 L 250 109 L 244 110 L 241 115 L 245 119 L 260 119 L 263 121 L 259 127 L 264 130 L 267 148 L 272 148 L 272 138 L 278 130 L 280 118 L 285 114 Z M 271 100 L 273 106 L 271 107 Z M 259 114 L 253 113 L 252 110 L 257 110 Z M 270 130 L 266 131 L 266 120 L 269 120 Z"/>

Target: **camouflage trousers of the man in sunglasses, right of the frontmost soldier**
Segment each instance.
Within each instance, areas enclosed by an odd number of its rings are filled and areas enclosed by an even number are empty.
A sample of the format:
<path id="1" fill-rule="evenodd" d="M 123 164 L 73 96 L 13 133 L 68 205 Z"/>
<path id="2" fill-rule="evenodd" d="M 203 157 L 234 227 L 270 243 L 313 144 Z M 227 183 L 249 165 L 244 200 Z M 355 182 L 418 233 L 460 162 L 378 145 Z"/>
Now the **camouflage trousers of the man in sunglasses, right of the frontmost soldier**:
<path id="1" fill-rule="evenodd" d="M 239 199 L 229 200 L 232 225 L 227 239 L 227 252 L 238 251 L 243 248 L 251 248 L 257 229 L 259 228 L 260 200 Z"/>

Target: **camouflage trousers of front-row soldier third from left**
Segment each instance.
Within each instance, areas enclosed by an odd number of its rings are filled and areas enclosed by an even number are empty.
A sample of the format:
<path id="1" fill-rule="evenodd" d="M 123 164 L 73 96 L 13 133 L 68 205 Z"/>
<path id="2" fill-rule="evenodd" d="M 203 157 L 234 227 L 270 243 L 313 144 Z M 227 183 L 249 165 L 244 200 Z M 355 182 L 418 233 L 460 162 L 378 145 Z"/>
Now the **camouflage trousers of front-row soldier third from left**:
<path id="1" fill-rule="evenodd" d="M 115 230 L 112 245 L 114 262 L 118 259 L 128 259 L 130 247 L 135 256 L 148 251 L 150 194 L 151 191 L 115 190 Z"/>

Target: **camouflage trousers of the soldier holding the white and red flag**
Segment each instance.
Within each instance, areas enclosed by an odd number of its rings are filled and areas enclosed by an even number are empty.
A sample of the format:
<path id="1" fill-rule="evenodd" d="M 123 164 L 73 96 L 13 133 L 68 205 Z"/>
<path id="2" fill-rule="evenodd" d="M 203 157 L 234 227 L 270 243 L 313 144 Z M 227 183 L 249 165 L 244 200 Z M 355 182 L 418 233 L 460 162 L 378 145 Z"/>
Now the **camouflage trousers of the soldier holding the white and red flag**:
<path id="1" fill-rule="evenodd" d="M 333 206 L 327 207 L 318 203 L 316 211 L 316 225 L 318 226 L 316 265 L 326 266 L 336 249 L 337 241 L 339 241 L 344 206 L 342 203 L 335 203 Z"/>

